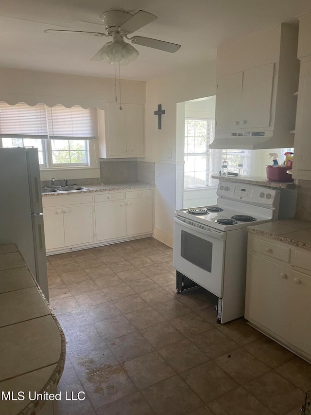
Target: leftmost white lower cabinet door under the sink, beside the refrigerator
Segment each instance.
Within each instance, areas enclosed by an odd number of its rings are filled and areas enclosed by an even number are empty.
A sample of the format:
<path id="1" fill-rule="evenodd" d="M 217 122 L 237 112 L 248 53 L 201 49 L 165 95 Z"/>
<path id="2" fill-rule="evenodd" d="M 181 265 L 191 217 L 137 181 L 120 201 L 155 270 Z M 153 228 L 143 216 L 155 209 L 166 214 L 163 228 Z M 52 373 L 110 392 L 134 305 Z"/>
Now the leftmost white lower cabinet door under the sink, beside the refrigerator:
<path id="1" fill-rule="evenodd" d="M 47 250 L 65 246 L 64 219 L 62 208 L 44 209 L 44 235 Z"/>

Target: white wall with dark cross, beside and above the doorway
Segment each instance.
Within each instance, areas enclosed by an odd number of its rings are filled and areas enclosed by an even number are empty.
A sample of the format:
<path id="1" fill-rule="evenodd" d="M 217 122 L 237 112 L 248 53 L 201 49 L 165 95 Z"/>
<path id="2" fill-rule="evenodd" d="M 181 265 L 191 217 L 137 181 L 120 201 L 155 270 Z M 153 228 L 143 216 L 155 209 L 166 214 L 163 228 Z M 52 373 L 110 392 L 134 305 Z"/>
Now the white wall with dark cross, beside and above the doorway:
<path id="1" fill-rule="evenodd" d="M 146 158 L 156 163 L 155 237 L 171 246 L 173 214 L 181 207 L 178 164 L 184 162 L 184 140 L 177 139 L 177 103 L 215 95 L 215 76 L 215 62 L 210 62 L 146 84 Z M 160 130 L 154 115 L 158 104 L 165 109 Z"/>

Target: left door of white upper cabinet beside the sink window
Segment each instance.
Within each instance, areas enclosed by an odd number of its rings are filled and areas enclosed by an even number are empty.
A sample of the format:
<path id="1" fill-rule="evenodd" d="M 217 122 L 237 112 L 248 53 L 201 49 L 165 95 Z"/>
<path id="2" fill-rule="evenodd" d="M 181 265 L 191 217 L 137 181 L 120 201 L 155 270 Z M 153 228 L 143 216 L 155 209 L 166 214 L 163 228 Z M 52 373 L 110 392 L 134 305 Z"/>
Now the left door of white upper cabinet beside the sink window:
<path id="1" fill-rule="evenodd" d="M 126 155 L 125 109 L 120 104 L 108 103 L 108 143 L 110 156 Z"/>

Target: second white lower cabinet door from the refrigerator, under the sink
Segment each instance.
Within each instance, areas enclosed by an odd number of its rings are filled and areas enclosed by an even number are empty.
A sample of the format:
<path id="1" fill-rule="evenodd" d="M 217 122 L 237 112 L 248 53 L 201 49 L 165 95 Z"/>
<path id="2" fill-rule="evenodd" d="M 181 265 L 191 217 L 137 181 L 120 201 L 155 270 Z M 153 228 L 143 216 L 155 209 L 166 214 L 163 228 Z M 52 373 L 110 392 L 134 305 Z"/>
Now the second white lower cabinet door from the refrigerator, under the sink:
<path id="1" fill-rule="evenodd" d="M 66 246 L 93 242 L 93 206 L 68 206 L 63 212 Z"/>

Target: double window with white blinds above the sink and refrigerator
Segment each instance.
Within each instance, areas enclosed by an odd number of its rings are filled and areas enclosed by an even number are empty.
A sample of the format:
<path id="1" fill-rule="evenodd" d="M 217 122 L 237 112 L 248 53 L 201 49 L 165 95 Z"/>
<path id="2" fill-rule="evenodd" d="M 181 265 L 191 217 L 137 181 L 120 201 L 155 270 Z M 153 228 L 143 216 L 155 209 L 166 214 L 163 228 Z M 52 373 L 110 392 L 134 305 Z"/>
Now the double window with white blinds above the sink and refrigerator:
<path id="1" fill-rule="evenodd" d="M 0 102 L 2 146 L 37 147 L 41 167 L 89 165 L 88 141 L 96 139 L 96 132 L 95 108 Z"/>

